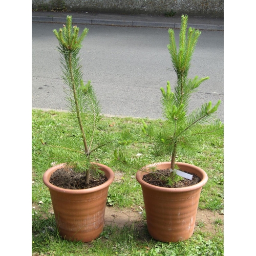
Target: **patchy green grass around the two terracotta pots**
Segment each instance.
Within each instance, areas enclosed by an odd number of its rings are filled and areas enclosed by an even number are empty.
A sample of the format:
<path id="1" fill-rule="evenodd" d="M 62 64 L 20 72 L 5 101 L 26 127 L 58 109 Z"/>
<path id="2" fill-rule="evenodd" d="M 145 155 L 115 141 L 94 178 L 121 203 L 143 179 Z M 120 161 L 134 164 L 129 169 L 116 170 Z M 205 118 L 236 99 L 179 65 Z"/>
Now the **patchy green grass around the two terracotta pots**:
<path id="1" fill-rule="evenodd" d="M 147 120 L 159 125 L 162 120 Z M 127 154 L 151 163 L 148 154 L 150 140 L 141 132 L 142 119 L 104 117 L 99 125 L 98 134 L 129 130 L 134 143 L 127 147 Z M 40 138 L 53 134 L 70 137 L 80 143 L 79 130 L 68 113 L 32 110 L 32 253 L 33 255 L 223 255 L 223 223 L 215 220 L 214 234 L 204 230 L 199 223 L 193 237 L 179 243 L 162 243 L 152 239 L 146 225 L 105 226 L 101 236 L 93 242 L 81 243 L 62 240 L 56 230 L 54 215 L 49 210 L 51 198 L 48 188 L 42 182 L 44 172 L 50 167 L 48 156 Z M 113 171 L 123 173 L 120 182 L 113 182 L 109 189 L 108 202 L 118 209 L 143 206 L 141 187 L 135 179 L 136 170 L 120 166 L 113 156 L 112 148 L 102 147 L 96 152 L 100 163 L 110 166 Z M 168 159 L 166 159 L 168 160 Z M 223 137 L 215 138 L 208 144 L 198 145 L 198 155 L 193 159 L 178 157 L 177 161 L 195 164 L 204 169 L 208 182 L 202 189 L 199 208 L 218 211 L 223 205 Z M 38 204 L 42 201 L 42 204 Z M 145 217 L 145 216 L 144 216 Z"/>

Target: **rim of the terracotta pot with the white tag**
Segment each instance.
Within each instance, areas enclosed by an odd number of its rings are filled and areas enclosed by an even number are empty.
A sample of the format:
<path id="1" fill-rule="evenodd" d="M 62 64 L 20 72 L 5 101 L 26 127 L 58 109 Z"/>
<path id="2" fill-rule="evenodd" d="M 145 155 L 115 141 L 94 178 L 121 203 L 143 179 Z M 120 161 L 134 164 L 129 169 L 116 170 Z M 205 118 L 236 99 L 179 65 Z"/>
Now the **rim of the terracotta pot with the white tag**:
<path id="1" fill-rule="evenodd" d="M 158 166 L 160 164 L 170 164 L 170 162 L 158 162 L 158 163 L 153 163 L 153 164 L 148 164 L 142 168 L 148 168 L 151 166 Z M 183 162 L 175 162 L 175 164 L 179 165 L 183 165 L 183 166 L 187 166 L 193 169 L 197 170 L 197 173 L 200 173 L 202 178 L 201 181 L 195 185 L 192 186 L 188 186 L 188 187 L 159 187 L 159 186 L 155 186 L 152 185 L 150 183 L 145 182 L 144 180 L 142 180 L 142 177 L 144 175 L 145 172 L 143 172 L 142 170 L 138 170 L 138 172 L 136 173 L 136 180 L 143 186 L 147 187 L 147 188 L 151 188 L 151 189 L 155 189 L 158 191 L 165 191 L 165 192 L 173 192 L 173 193 L 180 193 L 180 192 L 187 192 L 187 191 L 191 191 L 191 190 L 195 190 L 198 189 L 200 187 L 202 187 L 203 185 L 206 184 L 207 180 L 208 180 L 208 176 L 206 174 L 206 172 L 201 169 L 200 167 L 193 165 L 193 164 L 189 164 L 189 163 L 183 163 Z"/>

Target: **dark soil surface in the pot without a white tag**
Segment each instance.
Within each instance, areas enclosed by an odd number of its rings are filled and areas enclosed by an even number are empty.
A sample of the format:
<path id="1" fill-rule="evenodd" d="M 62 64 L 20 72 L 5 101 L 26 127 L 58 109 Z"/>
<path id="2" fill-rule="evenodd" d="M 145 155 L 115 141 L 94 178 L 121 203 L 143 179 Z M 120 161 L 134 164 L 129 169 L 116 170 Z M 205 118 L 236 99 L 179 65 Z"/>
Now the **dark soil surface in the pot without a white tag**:
<path id="1" fill-rule="evenodd" d="M 84 189 L 99 186 L 108 180 L 105 174 L 99 174 L 97 177 L 91 174 L 90 183 L 86 184 L 85 177 L 85 172 L 78 173 L 72 169 L 60 168 L 51 175 L 50 183 L 61 188 Z"/>

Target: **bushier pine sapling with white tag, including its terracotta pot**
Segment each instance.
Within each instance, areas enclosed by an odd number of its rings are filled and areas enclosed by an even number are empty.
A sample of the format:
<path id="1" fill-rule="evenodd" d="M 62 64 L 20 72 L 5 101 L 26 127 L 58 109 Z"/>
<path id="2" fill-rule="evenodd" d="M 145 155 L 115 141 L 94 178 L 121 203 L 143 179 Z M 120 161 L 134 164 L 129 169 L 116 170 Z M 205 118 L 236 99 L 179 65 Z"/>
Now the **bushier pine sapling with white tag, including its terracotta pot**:
<path id="1" fill-rule="evenodd" d="M 136 173 L 142 187 L 148 232 L 162 242 L 176 242 L 192 236 L 201 189 L 208 179 L 200 167 L 176 162 L 177 155 L 193 156 L 198 143 L 223 133 L 223 124 L 216 118 L 220 100 L 216 105 L 208 102 L 188 111 L 191 93 L 208 77 L 188 78 L 191 57 L 201 32 L 194 28 L 187 30 L 187 20 L 187 15 L 181 16 L 178 49 L 174 30 L 168 30 L 167 48 L 177 81 L 173 92 L 169 81 L 166 90 L 161 88 L 163 124 L 155 127 L 143 123 L 143 132 L 153 139 L 152 153 L 157 161 Z M 122 153 L 115 154 L 122 162 L 138 166 L 138 162 L 125 159 Z M 166 161 L 166 156 L 170 161 Z"/>

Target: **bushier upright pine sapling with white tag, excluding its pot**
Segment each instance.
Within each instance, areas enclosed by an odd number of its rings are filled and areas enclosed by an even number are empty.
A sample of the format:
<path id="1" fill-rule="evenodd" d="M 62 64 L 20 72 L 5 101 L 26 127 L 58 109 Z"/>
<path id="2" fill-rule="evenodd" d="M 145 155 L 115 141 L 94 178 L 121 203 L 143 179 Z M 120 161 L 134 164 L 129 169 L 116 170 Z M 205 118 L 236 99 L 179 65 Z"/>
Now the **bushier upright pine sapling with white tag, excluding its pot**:
<path id="1" fill-rule="evenodd" d="M 187 15 L 181 16 L 181 29 L 179 45 L 176 45 L 175 33 L 169 29 L 169 44 L 167 49 L 172 60 L 173 69 L 177 75 L 174 91 L 167 81 L 166 90 L 160 88 L 162 93 L 161 103 L 164 121 L 161 126 L 147 125 L 143 122 L 142 132 L 152 138 L 153 155 L 157 161 L 170 159 L 170 169 L 175 170 L 175 160 L 179 156 L 193 156 L 197 151 L 199 142 L 209 141 L 211 136 L 223 133 L 223 124 L 216 118 L 216 112 L 221 101 L 215 105 L 211 101 L 204 103 L 200 108 L 189 113 L 189 100 L 193 92 L 196 92 L 200 84 L 209 77 L 188 78 L 191 58 L 193 56 L 198 38 L 201 34 L 195 28 L 187 30 Z M 125 159 L 124 154 L 117 154 L 116 158 L 126 165 L 139 165 L 138 161 Z M 141 168 L 140 168 L 141 169 Z M 142 169 L 143 170 L 143 169 Z M 144 170 L 143 170 L 144 171 Z M 154 172 L 154 170 L 151 170 Z M 176 172 L 172 172 L 167 182 L 172 185 L 179 181 Z"/>

